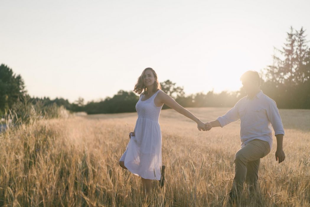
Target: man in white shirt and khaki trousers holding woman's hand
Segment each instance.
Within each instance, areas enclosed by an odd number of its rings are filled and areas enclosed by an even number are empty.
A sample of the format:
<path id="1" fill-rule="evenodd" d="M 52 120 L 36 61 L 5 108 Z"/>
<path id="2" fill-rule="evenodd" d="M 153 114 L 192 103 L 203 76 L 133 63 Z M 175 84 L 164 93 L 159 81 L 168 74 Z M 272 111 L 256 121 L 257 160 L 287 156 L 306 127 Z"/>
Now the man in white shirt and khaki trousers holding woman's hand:
<path id="1" fill-rule="evenodd" d="M 260 158 L 266 156 L 272 146 L 272 129 L 277 138 L 276 161 L 285 159 L 282 143 L 284 129 L 274 100 L 260 90 L 260 77 L 256 71 L 247 71 L 240 80 L 247 96 L 240 99 L 225 115 L 206 123 L 206 129 L 241 120 L 241 149 L 235 155 L 235 177 L 229 193 L 231 200 L 240 197 L 246 180 L 250 191 L 257 187 Z"/>

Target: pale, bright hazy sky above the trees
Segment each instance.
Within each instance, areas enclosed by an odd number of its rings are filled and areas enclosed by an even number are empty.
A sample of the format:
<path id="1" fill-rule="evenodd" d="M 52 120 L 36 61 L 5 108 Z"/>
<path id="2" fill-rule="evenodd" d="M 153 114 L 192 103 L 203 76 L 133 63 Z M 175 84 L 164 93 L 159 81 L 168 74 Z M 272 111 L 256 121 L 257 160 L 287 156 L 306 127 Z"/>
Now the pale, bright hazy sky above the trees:
<path id="1" fill-rule="evenodd" d="M 144 68 L 186 95 L 238 90 L 272 64 L 290 26 L 310 31 L 310 1 L 0 1 L 0 64 L 31 96 L 70 102 L 133 90 Z M 310 40 L 310 36 L 308 36 Z"/>

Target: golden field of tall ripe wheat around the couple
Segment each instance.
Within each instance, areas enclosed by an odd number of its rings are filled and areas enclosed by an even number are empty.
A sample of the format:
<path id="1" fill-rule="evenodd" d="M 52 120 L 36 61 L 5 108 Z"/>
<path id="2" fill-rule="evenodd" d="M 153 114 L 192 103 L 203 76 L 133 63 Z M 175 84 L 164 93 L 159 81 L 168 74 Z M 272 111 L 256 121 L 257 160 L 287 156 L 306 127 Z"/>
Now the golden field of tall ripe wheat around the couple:
<path id="1" fill-rule="evenodd" d="M 188 108 L 212 121 L 229 108 Z M 245 185 L 234 206 L 310 206 L 310 110 L 280 110 L 286 160 L 275 161 L 276 139 L 261 160 L 259 191 Z M 145 199 L 141 181 L 118 160 L 136 113 L 34 121 L 0 134 L 0 206 L 229 206 L 240 122 L 208 132 L 162 110 L 166 183 L 153 182 Z"/>

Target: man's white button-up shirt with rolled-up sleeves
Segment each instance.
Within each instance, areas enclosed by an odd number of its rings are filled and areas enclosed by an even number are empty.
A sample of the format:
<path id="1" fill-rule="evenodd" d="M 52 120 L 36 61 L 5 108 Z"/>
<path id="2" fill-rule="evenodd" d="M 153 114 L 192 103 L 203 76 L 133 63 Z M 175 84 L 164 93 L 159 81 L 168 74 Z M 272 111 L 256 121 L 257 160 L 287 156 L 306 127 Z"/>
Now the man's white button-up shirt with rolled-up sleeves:
<path id="1" fill-rule="evenodd" d="M 253 139 L 260 139 L 272 147 L 272 128 L 277 134 L 284 135 L 282 120 L 274 100 L 259 91 L 253 99 L 248 96 L 240 99 L 225 115 L 218 117 L 221 127 L 239 120 L 241 148 Z"/>

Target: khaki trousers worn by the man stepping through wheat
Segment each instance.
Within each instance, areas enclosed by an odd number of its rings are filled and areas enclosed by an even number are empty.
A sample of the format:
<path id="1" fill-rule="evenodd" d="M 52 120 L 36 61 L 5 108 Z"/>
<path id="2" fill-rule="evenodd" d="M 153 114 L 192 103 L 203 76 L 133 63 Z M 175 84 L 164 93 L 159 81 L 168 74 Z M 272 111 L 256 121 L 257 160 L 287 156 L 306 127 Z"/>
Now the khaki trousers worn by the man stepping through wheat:
<path id="1" fill-rule="evenodd" d="M 236 153 L 235 177 L 231 190 L 234 195 L 240 195 L 245 180 L 250 186 L 250 191 L 256 189 L 260 158 L 268 155 L 269 152 L 268 142 L 254 139 Z"/>

